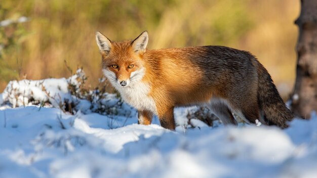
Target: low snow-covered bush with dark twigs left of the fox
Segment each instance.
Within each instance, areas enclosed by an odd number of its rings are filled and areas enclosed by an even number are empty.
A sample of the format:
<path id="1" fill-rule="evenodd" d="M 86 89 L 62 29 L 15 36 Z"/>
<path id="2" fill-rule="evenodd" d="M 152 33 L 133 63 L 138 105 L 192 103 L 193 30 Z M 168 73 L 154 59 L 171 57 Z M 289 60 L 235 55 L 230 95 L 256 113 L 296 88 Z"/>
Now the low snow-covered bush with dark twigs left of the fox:
<path id="1" fill-rule="evenodd" d="M 39 105 L 55 107 L 75 114 L 96 112 L 103 115 L 130 116 L 131 106 L 117 94 L 106 92 L 106 79 L 99 79 L 93 90 L 86 86 L 87 77 L 82 68 L 69 78 L 10 81 L 0 98 L 0 105 L 20 107 Z"/>

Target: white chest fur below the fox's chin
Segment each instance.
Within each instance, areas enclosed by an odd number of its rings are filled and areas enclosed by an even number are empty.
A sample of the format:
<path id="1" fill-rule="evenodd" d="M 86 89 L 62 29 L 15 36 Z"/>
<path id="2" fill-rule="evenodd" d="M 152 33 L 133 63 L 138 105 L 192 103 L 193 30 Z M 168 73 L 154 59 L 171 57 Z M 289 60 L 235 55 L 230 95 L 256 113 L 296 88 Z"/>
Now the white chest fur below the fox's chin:
<path id="1" fill-rule="evenodd" d="M 117 87 L 117 90 L 131 106 L 138 110 L 148 110 L 157 114 L 155 102 L 153 98 L 148 96 L 149 84 L 139 81 L 128 87 Z"/>

